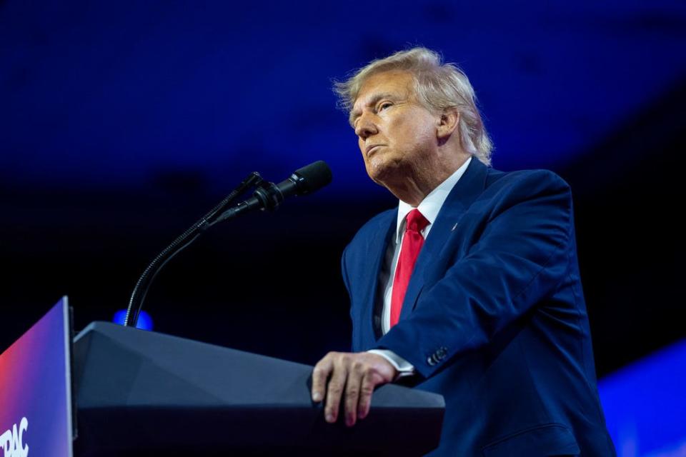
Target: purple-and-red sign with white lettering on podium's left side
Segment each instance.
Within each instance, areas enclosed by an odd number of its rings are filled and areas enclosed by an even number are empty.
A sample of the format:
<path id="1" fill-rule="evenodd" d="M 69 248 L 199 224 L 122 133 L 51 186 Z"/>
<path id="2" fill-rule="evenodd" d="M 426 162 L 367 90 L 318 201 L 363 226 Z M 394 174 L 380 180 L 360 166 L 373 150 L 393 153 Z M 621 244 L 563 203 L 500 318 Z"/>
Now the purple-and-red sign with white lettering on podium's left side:
<path id="1" fill-rule="evenodd" d="M 62 298 L 0 355 L 0 457 L 71 457 L 71 338 Z"/>

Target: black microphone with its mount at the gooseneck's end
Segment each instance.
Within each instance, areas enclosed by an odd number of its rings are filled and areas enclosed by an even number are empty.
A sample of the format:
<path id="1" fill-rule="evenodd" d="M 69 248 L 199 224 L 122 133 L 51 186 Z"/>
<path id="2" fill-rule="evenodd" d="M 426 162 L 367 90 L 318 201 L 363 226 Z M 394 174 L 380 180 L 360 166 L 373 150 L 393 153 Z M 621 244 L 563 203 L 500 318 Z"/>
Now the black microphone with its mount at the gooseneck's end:
<path id="1" fill-rule="evenodd" d="M 314 191 L 322 189 L 332 180 L 331 169 L 326 162 L 319 160 L 312 164 L 297 169 L 288 179 L 274 184 L 264 181 L 254 191 L 252 197 L 242 201 L 232 209 L 224 211 L 212 225 L 218 222 L 232 219 L 241 214 L 254 209 L 277 209 L 279 205 L 289 196 L 299 196 L 312 194 Z"/>

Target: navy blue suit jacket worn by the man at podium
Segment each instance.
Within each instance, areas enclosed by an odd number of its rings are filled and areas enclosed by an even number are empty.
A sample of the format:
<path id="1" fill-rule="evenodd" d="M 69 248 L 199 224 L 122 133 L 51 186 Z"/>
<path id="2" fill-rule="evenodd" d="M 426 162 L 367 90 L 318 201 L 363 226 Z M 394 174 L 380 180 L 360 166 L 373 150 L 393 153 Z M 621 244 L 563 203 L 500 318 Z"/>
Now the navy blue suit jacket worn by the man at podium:
<path id="1" fill-rule="evenodd" d="M 435 456 L 614 456 L 597 393 L 570 188 L 472 159 L 417 258 L 399 323 L 374 328 L 397 210 L 343 253 L 352 348 L 412 363 L 446 402 Z M 372 411 L 373 413 L 373 411 Z"/>

